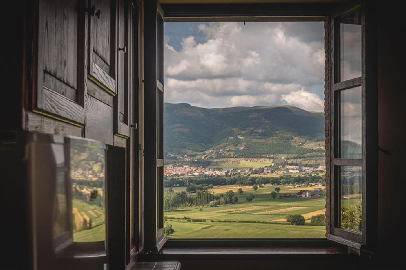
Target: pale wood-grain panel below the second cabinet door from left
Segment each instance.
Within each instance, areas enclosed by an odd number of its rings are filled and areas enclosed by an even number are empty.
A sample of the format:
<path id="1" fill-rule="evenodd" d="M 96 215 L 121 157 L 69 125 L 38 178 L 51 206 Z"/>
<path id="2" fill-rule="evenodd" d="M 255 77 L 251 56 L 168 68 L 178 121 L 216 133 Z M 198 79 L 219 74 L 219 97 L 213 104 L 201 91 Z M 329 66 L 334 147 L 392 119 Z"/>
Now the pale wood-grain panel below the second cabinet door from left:
<path id="1" fill-rule="evenodd" d="M 113 144 L 113 108 L 86 96 L 85 137 Z"/>

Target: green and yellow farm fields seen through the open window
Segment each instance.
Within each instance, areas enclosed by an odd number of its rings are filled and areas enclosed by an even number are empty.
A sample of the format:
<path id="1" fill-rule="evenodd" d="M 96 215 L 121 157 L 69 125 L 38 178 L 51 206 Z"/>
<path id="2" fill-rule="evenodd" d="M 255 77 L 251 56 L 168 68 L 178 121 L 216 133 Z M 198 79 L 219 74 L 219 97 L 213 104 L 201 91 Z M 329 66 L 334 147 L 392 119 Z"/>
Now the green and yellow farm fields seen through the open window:
<path id="1" fill-rule="evenodd" d="M 170 237 L 324 238 L 326 227 L 313 226 L 309 219 L 312 212 L 322 211 L 325 208 L 326 198 L 280 199 L 280 195 L 278 195 L 276 199 L 271 199 L 270 192 L 274 191 L 276 187 L 267 185 L 256 192 L 253 190 L 244 191 L 244 194 L 237 195 L 238 203 L 236 204 L 219 207 L 188 207 L 165 212 L 168 223 L 171 223 L 175 230 L 175 233 Z M 281 188 L 281 195 L 296 194 L 298 192 L 298 188 L 279 187 Z M 180 189 L 180 187 L 177 188 Z M 222 192 L 227 190 L 235 191 L 238 188 L 239 186 L 220 186 L 220 189 L 215 188 L 212 192 L 216 190 L 221 190 Z M 314 187 L 302 189 L 312 190 Z M 254 193 L 255 195 L 255 199 L 251 202 L 246 201 L 246 196 L 249 193 Z M 219 193 L 215 192 L 215 194 L 218 195 Z M 295 226 L 286 222 L 285 216 L 288 213 L 306 216 L 306 224 Z M 185 216 L 190 219 L 205 219 L 206 221 L 188 221 L 187 219 L 182 219 Z"/>

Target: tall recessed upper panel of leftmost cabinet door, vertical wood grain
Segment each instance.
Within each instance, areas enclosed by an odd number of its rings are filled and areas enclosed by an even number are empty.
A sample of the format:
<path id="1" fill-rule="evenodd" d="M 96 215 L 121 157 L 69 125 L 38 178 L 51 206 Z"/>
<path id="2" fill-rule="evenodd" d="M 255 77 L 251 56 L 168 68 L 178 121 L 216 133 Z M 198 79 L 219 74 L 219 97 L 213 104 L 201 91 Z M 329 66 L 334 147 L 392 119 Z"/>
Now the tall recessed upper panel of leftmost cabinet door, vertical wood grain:
<path id="1" fill-rule="evenodd" d="M 75 0 L 41 0 L 39 44 L 42 69 L 77 88 L 78 11 Z"/>

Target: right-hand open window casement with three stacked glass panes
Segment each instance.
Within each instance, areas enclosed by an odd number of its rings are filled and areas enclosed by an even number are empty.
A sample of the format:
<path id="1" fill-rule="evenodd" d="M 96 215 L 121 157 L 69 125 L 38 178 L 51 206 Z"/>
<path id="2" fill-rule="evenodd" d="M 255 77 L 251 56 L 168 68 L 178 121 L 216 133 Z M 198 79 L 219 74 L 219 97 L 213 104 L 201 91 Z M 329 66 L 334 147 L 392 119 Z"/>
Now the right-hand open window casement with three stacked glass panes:
<path id="1" fill-rule="evenodd" d="M 375 24 L 375 1 L 343 4 L 330 17 L 328 239 L 364 251 L 377 239 Z"/>

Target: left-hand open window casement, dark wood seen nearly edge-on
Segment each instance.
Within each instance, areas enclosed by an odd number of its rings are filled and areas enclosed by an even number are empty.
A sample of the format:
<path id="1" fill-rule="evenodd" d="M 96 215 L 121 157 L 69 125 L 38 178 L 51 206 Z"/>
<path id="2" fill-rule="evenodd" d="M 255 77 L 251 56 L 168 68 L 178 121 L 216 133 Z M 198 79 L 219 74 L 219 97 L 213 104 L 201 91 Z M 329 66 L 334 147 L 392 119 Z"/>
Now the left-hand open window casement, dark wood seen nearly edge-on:
<path id="1" fill-rule="evenodd" d="M 145 2 L 145 251 L 166 242 L 163 229 L 164 177 L 164 13 L 157 1 Z"/>

